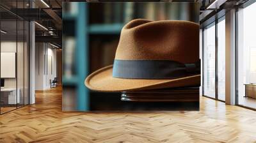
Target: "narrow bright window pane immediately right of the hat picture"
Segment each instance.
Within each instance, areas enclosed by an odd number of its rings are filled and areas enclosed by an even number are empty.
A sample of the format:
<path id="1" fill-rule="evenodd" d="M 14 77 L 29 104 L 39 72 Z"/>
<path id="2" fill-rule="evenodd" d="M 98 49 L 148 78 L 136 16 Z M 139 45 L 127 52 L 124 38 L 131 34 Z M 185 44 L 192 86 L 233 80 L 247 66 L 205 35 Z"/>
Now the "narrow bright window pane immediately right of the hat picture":
<path id="1" fill-rule="evenodd" d="M 204 29 L 204 95 L 215 98 L 215 25 Z"/>

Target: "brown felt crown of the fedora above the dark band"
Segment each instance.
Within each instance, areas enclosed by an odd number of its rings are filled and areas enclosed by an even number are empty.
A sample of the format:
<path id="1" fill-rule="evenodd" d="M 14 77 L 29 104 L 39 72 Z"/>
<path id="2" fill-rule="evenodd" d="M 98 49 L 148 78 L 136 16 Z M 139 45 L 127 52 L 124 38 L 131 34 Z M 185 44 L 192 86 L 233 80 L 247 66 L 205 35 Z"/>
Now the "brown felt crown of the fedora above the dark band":
<path id="1" fill-rule="evenodd" d="M 132 20 L 121 31 L 115 59 L 195 63 L 199 60 L 199 25 L 182 20 Z"/>

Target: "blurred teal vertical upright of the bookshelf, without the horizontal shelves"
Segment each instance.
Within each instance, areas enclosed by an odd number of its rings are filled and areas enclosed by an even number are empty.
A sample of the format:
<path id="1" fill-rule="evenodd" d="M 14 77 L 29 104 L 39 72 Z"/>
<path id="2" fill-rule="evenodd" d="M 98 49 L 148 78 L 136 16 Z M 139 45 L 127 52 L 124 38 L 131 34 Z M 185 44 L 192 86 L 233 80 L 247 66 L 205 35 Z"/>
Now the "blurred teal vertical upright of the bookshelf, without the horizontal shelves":
<path id="1" fill-rule="evenodd" d="M 76 70 L 77 70 L 77 110 L 88 111 L 90 93 L 84 86 L 88 75 L 88 13 L 87 3 L 79 3 L 76 17 Z"/>

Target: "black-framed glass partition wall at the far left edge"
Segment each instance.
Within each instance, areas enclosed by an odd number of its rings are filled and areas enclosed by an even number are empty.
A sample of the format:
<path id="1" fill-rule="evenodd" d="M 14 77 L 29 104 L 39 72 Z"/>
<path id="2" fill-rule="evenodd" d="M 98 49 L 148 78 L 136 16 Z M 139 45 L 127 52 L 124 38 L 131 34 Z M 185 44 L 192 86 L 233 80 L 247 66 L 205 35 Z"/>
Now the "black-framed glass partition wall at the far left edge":
<path id="1" fill-rule="evenodd" d="M 22 3 L 19 1 L 19 6 L 24 6 Z M 16 1 L 12 4 L 19 7 Z M 0 30 L 0 114 L 3 114 L 29 104 L 29 22 L 0 8 Z"/>

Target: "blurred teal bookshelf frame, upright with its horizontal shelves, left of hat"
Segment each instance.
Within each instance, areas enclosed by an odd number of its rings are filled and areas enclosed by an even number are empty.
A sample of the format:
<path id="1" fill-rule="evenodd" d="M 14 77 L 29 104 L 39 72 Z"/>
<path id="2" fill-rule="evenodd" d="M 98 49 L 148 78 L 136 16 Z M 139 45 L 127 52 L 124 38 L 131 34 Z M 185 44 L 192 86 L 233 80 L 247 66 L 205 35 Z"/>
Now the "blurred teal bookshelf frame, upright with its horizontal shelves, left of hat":
<path id="1" fill-rule="evenodd" d="M 120 34 L 123 22 L 115 24 L 90 24 L 89 22 L 89 4 L 86 2 L 78 3 L 77 13 L 65 11 L 63 20 L 75 24 L 76 50 L 75 50 L 75 69 L 72 77 L 63 77 L 63 86 L 71 87 L 76 94 L 76 111 L 90 111 L 90 91 L 84 86 L 84 79 L 90 72 L 90 36 L 93 34 L 113 35 Z M 68 35 L 69 36 L 69 35 Z M 63 56 L 64 57 L 64 56 Z M 71 89 L 70 89 L 71 90 Z M 66 94 L 72 97 L 72 95 Z M 73 107 L 72 107 L 73 108 Z"/>

